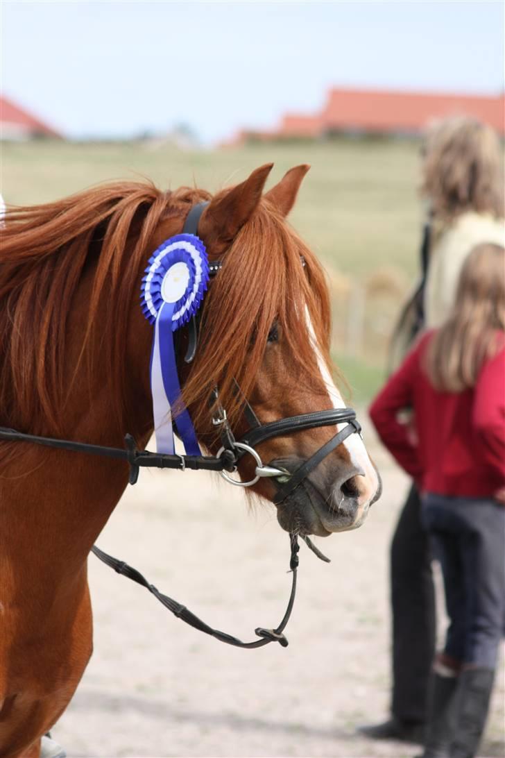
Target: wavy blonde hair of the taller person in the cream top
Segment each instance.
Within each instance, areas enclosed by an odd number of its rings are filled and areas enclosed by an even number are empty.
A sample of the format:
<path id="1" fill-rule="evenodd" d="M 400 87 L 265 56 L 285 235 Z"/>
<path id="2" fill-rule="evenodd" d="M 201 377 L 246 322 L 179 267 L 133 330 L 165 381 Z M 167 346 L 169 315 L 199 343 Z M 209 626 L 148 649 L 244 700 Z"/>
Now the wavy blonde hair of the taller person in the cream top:
<path id="1" fill-rule="evenodd" d="M 464 211 L 505 215 L 503 155 L 494 131 L 467 116 L 432 124 L 426 134 L 422 194 L 441 222 Z"/>

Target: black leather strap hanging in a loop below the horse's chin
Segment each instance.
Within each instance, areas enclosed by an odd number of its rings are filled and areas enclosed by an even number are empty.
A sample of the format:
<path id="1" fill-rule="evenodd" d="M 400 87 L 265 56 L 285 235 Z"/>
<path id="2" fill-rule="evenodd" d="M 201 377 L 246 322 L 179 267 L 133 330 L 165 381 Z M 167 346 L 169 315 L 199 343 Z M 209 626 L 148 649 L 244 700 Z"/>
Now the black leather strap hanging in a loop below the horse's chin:
<path id="1" fill-rule="evenodd" d="M 157 590 L 157 587 L 154 587 L 154 584 L 151 584 L 139 571 L 137 571 L 136 568 L 132 568 L 132 566 L 128 565 L 126 562 L 120 561 L 117 558 L 113 558 L 113 556 L 109 556 L 108 553 L 104 553 L 104 551 L 100 550 L 100 548 L 96 547 L 96 545 L 92 547 L 92 553 L 94 553 L 98 559 L 104 562 L 105 565 L 110 566 L 110 568 L 114 568 L 114 571 L 117 572 L 117 574 L 126 576 L 127 579 L 136 581 L 137 584 L 140 584 L 142 587 L 145 587 L 147 590 L 149 590 L 149 592 L 153 594 L 154 597 L 159 600 L 163 606 L 165 606 L 165 608 L 172 612 L 173 615 L 175 615 L 178 619 L 181 619 L 183 622 L 185 622 L 185 624 L 189 624 L 193 628 L 198 629 L 198 631 L 203 631 L 204 634 L 210 634 L 211 637 L 216 637 L 217 640 L 226 642 L 226 644 L 233 645 L 234 647 L 244 647 L 252 650 L 256 647 L 263 647 L 270 642 L 278 642 L 282 647 L 288 647 L 288 640 L 286 639 L 285 635 L 282 634 L 282 632 L 284 631 L 285 626 L 289 621 L 289 617 L 291 616 L 291 611 L 293 609 L 293 604 L 295 603 L 298 550 L 300 550 L 300 546 L 298 545 L 298 537 L 296 534 L 289 534 L 289 541 L 291 546 L 289 570 L 292 573 L 292 581 L 288 607 L 286 608 L 285 614 L 282 617 L 282 621 L 275 629 L 267 629 L 263 627 L 257 627 L 254 629 L 254 633 L 257 634 L 258 637 L 261 637 L 260 640 L 255 640 L 254 642 L 242 642 L 242 640 L 239 640 L 238 637 L 233 637 L 232 634 L 226 634 L 226 632 L 219 631 L 219 629 L 213 629 L 208 624 L 199 619 L 197 615 L 186 608 L 186 606 L 178 603 L 177 600 L 173 600 L 172 597 L 168 597 L 168 595 L 162 594 L 159 590 Z"/>

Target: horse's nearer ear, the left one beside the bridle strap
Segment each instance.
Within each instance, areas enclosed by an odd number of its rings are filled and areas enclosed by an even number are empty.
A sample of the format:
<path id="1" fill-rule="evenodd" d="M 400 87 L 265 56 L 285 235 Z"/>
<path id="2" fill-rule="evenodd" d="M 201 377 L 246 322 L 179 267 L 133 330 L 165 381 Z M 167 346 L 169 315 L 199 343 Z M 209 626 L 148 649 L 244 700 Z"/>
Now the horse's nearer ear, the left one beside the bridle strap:
<path id="1" fill-rule="evenodd" d="M 266 163 L 251 176 L 214 198 L 201 217 L 200 232 L 208 246 L 231 243 L 260 202 L 263 186 L 273 163 Z"/>

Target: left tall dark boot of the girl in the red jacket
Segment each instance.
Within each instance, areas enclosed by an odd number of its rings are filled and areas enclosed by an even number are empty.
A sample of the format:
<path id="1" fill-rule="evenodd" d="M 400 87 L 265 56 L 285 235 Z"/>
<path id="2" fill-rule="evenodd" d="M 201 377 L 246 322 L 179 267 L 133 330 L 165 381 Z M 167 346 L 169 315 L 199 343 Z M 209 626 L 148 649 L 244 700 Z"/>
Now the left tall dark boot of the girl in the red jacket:
<path id="1" fill-rule="evenodd" d="M 449 758 L 450 745 L 454 737 L 457 681 L 455 674 L 442 675 L 434 672 L 432 675 L 425 749 L 419 758 Z"/>

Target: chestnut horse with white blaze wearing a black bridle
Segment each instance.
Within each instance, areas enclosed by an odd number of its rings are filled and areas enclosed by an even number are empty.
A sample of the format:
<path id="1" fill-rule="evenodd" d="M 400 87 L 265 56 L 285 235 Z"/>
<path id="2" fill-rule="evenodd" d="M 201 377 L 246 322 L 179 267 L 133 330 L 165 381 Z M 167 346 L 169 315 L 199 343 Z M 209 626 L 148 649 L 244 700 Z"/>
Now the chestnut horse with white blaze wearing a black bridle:
<path id="1" fill-rule="evenodd" d="M 308 167 L 262 195 L 271 168 L 214 197 L 121 182 L 8 211 L 0 426 L 108 446 L 122 446 L 129 431 L 145 446 L 152 327 L 139 306 L 142 272 L 202 201 L 210 202 L 198 236 L 223 268 L 204 299 L 195 361 L 181 376 L 198 438 L 216 453 L 209 398 L 217 384 L 234 431 L 247 428 L 235 380 L 262 422 L 343 406 L 329 373 L 323 271 L 285 221 Z M 323 427 L 276 437 L 260 444 L 261 456 L 296 465 L 334 434 Z M 9 442 L 0 443 L 0 466 L 0 755 L 36 758 L 92 652 L 86 563 L 128 471 L 121 461 Z M 251 456 L 238 471 L 251 478 Z M 271 481 L 254 490 L 273 500 Z M 352 434 L 279 504 L 279 523 L 325 536 L 351 529 L 378 493 L 376 470 Z"/>

